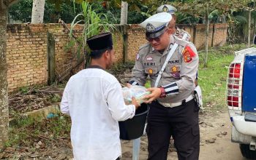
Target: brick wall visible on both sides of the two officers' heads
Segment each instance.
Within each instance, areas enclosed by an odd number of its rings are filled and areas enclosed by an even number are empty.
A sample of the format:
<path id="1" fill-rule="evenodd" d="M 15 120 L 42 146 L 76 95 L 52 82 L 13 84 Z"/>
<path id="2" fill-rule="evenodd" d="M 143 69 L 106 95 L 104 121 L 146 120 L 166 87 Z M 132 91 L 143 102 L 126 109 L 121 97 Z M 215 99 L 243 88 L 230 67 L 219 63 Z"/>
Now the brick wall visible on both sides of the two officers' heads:
<path id="1" fill-rule="evenodd" d="M 191 41 L 195 44 L 198 50 L 206 47 L 205 34 L 206 25 L 178 25 L 191 35 Z M 195 31 L 195 33 L 194 33 Z M 145 31 L 139 25 L 128 25 L 128 60 L 135 60 L 138 49 L 141 45 L 146 44 Z M 194 37 L 195 35 L 195 37 Z M 227 24 L 211 24 L 209 25 L 208 46 L 217 47 L 226 43 L 227 39 Z"/>

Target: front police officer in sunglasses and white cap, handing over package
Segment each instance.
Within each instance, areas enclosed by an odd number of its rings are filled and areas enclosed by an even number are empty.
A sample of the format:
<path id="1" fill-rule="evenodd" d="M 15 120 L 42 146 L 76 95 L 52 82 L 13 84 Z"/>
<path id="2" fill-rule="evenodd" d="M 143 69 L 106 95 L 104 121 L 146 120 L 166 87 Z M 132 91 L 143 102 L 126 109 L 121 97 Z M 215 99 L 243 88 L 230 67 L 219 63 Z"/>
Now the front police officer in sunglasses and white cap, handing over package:
<path id="1" fill-rule="evenodd" d="M 170 137 L 173 136 L 178 159 L 195 160 L 199 156 L 200 144 L 199 108 L 193 96 L 198 55 L 191 42 L 173 36 L 171 19 L 172 15 L 161 12 L 140 24 L 146 28 L 148 43 L 139 49 L 129 84 L 144 86 L 148 76 L 151 81 L 151 88 L 148 88 L 151 94 L 145 96 L 150 105 L 146 127 L 148 159 L 167 159 Z M 167 61 L 157 87 L 154 87 L 172 48 L 175 52 Z"/>

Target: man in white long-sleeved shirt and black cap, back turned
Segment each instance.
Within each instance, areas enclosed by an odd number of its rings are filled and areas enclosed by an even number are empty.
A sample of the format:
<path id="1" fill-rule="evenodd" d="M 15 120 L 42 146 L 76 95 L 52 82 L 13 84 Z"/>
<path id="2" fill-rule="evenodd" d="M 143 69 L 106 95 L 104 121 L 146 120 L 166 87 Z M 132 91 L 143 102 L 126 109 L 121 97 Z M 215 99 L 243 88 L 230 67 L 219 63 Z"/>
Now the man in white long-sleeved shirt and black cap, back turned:
<path id="1" fill-rule="evenodd" d="M 113 64 L 111 33 L 87 40 L 91 65 L 72 76 L 61 100 L 61 112 L 72 120 L 71 142 L 74 159 L 116 160 L 121 156 L 118 121 L 131 119 L 139 104 L 124 104 L 121 85 L 106 72 Z"/>

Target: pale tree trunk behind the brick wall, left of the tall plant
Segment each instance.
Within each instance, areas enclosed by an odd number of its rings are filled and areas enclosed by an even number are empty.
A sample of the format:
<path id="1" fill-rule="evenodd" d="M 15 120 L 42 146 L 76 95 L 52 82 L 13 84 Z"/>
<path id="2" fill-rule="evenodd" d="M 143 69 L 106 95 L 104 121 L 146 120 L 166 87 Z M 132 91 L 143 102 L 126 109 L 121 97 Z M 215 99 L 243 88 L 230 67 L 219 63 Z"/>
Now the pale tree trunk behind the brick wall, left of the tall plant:
<path id="1" fill-rule="evenodd" d="M 45 0 L 33 0 L 31 23 L 42 23 L 44 20 Z"/>

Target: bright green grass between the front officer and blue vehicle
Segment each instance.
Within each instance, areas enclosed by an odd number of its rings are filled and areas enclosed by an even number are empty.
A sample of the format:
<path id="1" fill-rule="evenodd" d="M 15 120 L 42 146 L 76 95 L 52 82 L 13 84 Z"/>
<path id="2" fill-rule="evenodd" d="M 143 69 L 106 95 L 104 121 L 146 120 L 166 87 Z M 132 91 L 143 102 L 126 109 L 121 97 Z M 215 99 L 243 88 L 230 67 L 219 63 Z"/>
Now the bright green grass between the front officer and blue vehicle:
<path id="1" fill-rule="evenodd" d="M 234 52 L 245 48 L 244 44 L 236 44 L 209 49 L 206 68 L 203 67 L 204 51 L 199 52 L 198 84 L 203 92 L 203 107 L 212 111 L 225 108 L 227 69 L 235 57 Z"/>

